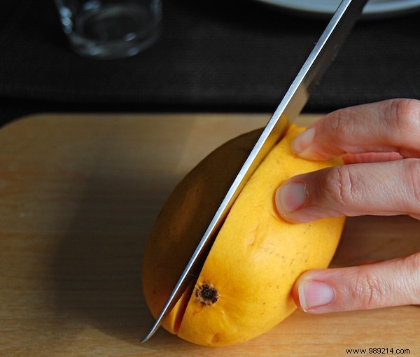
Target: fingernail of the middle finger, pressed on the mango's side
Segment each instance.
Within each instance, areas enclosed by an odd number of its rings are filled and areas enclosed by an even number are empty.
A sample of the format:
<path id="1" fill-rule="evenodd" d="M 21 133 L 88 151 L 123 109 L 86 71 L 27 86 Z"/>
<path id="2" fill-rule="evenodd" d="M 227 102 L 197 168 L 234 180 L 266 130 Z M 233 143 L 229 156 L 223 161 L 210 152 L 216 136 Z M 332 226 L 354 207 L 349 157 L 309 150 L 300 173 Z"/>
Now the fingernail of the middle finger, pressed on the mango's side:
<path id="1" fill-rule="evenodd" d="M 307 200 L 304 183 L 286 183 L 276 191 L 276 207 L 281 214 L 290 214 L 300 209 Z"/>

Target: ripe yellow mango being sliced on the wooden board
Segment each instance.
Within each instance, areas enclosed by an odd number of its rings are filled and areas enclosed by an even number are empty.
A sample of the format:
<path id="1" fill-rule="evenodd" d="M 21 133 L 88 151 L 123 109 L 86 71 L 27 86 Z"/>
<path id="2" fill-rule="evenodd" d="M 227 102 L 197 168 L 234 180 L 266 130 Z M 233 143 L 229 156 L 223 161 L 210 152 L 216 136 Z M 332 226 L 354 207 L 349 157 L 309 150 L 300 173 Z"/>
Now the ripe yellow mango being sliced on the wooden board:
<path id="1" fill-rule="evenodd" d="M 197 280 L 163 327 L 189 342 L 225 346 L 274 328 L 297 308 L 293 283 L 307 269 L 328 267 L 344 218 L 284 221 L 274 193 L 291 176 L 332 165 L 290 151 L 302 128 L 290 127 L 246 183 L 218 232 Z M 153 226 L 144 252 L 146 304 L 158 316 L 260 131 L 217 148 L 176 186 Z"/>

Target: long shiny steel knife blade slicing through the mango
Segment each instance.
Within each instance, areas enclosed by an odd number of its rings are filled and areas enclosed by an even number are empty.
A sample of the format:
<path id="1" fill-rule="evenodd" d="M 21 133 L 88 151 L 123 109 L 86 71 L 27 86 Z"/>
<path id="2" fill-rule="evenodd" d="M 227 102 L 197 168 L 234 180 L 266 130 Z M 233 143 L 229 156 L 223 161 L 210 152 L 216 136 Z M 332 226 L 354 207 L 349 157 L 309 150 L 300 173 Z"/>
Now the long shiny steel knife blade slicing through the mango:
<path id="1" fill-rule="evenodd" d="M 293 123 L 293 120 L 302 111 L 309 99 L 309 94 L 337 56 L 339 49 L 362 13 L 366 2 L 367 0 L 343 0 L 339 4 L 323 34 L 321 34 L 321 37 L 314 46 L 314 49 L 309 54 L 299 73 L 297 73 L 295 80 L 293 80 L 293 83 L 288 88 L 276 111 L 274 111 L 251 153 L 248 155 L 248 158 L 246 158 L 244 165 L 239 170 L 232 186 L 230 186 L 228 193 L 216 211 L 214 218 L 211 220 L 206 232 L 204 232 L 200 243 L 181 274 L 179 281 L 176 283 L 174 290 L 169 295 L 151 330 L 146 337 L 141 339 L 141 343 L 146 342 L 155 334 L 162 321 L 175 306 L 193 279 L 195 279 L 197 273 L 200 272 L 200 267 L 204 264 L 204 259 L 207 257 L 223 221 L 228 216 L 233 202 L 235 202 L 251 174 L 253 174 L 258 165 L 260 165 L 260 162 L 265 158 L 265 155 L 283 137 L 289 125 Z"/>

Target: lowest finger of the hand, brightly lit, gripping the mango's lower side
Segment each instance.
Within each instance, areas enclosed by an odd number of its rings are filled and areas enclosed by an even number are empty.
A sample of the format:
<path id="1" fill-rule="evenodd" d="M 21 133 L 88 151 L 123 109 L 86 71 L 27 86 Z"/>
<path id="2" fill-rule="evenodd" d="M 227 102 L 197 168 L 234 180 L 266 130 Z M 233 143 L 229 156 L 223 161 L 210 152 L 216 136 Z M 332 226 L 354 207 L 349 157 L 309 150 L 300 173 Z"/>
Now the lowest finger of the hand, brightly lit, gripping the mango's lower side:
<path id="1" fill-rule="evenodd" d="M 295 282 L 293 299 L 312 314 L 420 304 L 420 252 L 358 267 L 309 270 Z"/>

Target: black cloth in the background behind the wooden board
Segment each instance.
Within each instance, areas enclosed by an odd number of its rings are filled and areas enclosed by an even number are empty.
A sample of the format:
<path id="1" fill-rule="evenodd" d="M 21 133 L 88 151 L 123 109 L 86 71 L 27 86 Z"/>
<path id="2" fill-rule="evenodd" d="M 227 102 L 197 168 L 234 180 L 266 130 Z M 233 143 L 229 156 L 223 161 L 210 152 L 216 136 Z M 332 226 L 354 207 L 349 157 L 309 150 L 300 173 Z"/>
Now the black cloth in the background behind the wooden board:
<path id="1" fill-rule="evenodd" d="M 327 19 L 258 1 L 163 0 L 134 57 L 74 54 L 52 0 L 2 0 L 0 124 L 45 111 L 273 111 Z M 305 111 L 420 98 L 420 13 L 358 22 Z"/>

